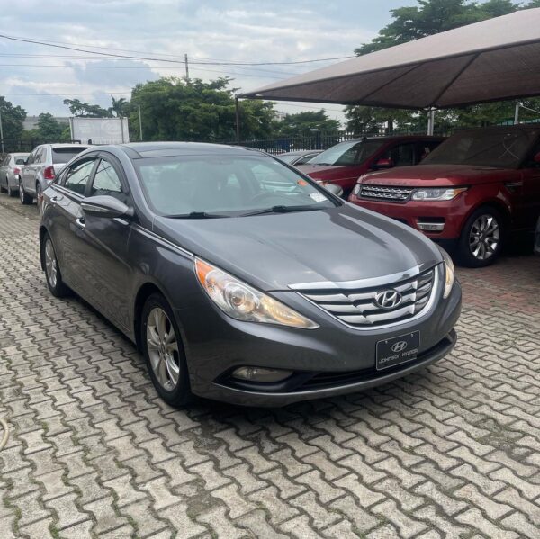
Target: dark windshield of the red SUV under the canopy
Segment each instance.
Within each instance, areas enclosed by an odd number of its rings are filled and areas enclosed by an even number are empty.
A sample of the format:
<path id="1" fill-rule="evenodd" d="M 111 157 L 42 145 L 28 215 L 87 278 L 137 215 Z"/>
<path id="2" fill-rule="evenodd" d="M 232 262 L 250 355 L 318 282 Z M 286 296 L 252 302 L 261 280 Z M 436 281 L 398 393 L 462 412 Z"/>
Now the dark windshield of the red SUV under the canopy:
<path id="1" fill-rule="evenodd" d="M 517 168 L 538 131 L 516 128 L 456 133 L 426 157 L 424 165 L 473 165 Z"/>

